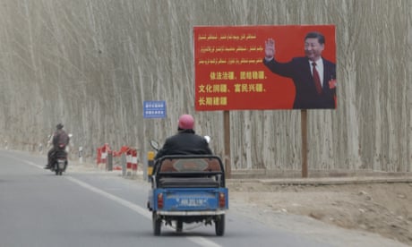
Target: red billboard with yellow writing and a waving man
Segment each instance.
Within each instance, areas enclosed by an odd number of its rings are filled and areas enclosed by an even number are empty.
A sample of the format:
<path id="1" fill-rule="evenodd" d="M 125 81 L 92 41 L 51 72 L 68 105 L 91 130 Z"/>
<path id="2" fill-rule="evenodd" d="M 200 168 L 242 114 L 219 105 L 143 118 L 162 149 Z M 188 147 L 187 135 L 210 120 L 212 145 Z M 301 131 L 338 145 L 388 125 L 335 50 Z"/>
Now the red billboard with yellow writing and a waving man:
<path id="1" fill-rule="evenodd" d="M 193 47 L 198 111 L 336 108 L 334 25 L 199 26 Z"/>

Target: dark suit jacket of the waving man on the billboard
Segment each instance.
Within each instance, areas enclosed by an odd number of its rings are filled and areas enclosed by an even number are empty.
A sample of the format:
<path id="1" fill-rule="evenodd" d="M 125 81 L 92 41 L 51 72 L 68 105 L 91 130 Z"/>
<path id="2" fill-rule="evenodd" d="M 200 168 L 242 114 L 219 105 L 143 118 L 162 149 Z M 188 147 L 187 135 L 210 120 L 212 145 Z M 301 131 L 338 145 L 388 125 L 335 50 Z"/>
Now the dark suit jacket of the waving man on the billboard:
<path id="1" fill-rule="evenodd" d="M 295 109 L 333 109 L 335 108 L 336 89 L 329 88 L 329 81 L 336 79 L 336 65 L 323 60 L 323 87 L 319 95 L 313 83 L 311 66 L 307 57 L 295 57 L 288 63 L 279 63 L 275 59 L 265 64 L 271 72 L 293 80 L 296 88 L 296 97 L 293 103 Z M 321 75 L 322 76 L 322 75 Z"/>

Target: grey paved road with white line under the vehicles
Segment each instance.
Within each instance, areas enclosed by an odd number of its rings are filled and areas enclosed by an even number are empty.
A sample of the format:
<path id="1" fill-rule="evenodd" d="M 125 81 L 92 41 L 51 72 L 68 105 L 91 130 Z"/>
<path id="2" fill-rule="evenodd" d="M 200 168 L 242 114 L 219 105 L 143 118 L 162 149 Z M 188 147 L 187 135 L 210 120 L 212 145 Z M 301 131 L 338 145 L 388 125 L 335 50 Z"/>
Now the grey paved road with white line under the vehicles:
<path id="1" fill-rule="evenodd" d="M 213 226 L 154 236 L 148 183 L 82 169 L 56 176 L 42 168 L 45 159 L 0 150 L 0 246 L 339 246 L 230 209 L 223 237 Z"/>

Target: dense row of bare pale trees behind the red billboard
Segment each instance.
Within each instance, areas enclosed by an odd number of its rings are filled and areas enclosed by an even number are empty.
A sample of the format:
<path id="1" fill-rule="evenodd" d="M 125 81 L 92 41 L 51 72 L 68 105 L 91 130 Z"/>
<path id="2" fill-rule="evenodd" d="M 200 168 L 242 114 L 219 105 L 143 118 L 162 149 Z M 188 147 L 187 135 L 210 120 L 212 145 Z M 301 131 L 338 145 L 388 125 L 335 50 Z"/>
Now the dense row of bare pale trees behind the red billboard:
<path id="1" fill-rule="evenodd" d="M 412 2 L 408 0 L 4 0 L 0 139 L 34 150 L 57 123 L 85 154 L 196 131 L 223 155 L 221 112 L 193 109 L 193 26 L 335 24 L 338 110 L 308 112 L 309 171 L 411 172 Z M 166 119 L 143 119 L 143 100 Z M 234 111 L 232 169 L 298 171 L 298 111 Z"/>

